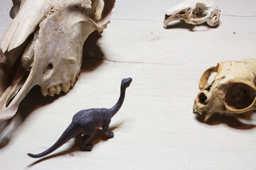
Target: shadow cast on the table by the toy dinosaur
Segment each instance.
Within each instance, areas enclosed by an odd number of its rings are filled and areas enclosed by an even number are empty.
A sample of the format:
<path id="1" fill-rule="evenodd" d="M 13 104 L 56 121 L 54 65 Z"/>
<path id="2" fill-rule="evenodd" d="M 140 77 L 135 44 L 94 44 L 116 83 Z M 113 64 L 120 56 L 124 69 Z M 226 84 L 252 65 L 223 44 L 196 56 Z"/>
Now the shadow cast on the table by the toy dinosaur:
<path id="1" fill-rule="evenodd" d="M 121 124 L 122 123 L 119 123 L 119 125 L 121 125 Z M 119 125 L 116 125 L 116 126 L 110 128 L 110 131 L 113 131 L 114 129 L 118 128 Z M 68 154 L 69 157 L 75 157 L 75 154 L 73 154 L 73 152 L 77 152 L 77 151 L 90 152 L 90 151 L 85 151 L 84 149 L 82 149 L 80 147 L 81 146 L 81 138 L 82 138 L 81 135 L 79 135 L 78 137 L 75 137 L 75 144 L 72 147 L 70 147 L 70 149 L 60 152 L 60 153 L 57 153 L 57 154 L 50 155 L 48 157 L 47 156 L 43 157 L 43 158 L 39 159 L 38 161 L 33 162 L 33 164 L 28 165 L 28 167 L 39 164 L 40 162 L 46 161 L 48 159 L 52 159 L 54 157 L 63 156 L 65 154 Z M 88 144 L 92 144 L 95 147 L 95 145 L 97 145 L 99 142 L 107 141 L 109 139 L 110 138 L 107 137 L 102 130 L 98 129 L 98 130 L 96 130 L 95 135 L 92 137 L 92 139 L 89 140 Z M 56 139 L 56 140 L 58 140 L 58 139 Z M 92 150 L 93 150 L 93 148 L 92 148 Z M 41 151 L 41 152 L 43 152 L 43 151 Z"/>

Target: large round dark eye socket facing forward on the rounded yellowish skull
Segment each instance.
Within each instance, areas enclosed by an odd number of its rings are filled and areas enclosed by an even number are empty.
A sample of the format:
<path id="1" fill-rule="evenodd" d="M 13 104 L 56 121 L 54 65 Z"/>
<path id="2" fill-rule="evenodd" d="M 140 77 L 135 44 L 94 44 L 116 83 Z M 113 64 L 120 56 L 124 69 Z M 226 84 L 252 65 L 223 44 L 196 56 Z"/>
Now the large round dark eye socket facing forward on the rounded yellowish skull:
<path id="1" fill-rule="evenodd" d="M 225 102 L 230 108 L 244 109 L 252 104 L 256 91 L 242 83 L 231 84 L 226 91 Z"/>

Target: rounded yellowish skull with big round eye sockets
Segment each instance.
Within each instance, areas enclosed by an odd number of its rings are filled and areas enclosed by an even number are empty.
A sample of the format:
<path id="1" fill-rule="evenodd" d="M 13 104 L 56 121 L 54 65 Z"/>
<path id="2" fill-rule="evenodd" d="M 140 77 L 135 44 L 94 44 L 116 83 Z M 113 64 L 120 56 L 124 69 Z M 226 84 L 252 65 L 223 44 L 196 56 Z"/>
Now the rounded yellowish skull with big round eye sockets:
<path id="1" fill-rule="evenodd" d="M 215 78 L 208 83 L 211 74 Z M 206 69 L 199 81 L 194 113 L 234 115 L 256 109 L 256 59 L 220 62 Z"/>

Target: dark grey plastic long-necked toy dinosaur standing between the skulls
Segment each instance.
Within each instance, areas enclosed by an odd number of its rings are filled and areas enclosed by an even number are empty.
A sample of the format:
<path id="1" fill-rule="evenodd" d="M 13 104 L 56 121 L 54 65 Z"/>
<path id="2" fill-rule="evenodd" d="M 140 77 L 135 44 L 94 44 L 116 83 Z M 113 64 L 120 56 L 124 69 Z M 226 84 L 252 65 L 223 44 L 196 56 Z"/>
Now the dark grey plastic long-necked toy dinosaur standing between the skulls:
<path id="1" fill-rule="evenodd" d="M 84 134 L 81 140 L 82 148 L 85 150 L 91 150 L 92 145 L 87 145 L 87 142 L 100 127 L 102 127 L 102 130 L 107 137 L 114 137 L 114 133 L 109 131 L 110 121 L 115 113 L 119 111 L 119 108 L 121 108 L 122 103 L 124 102 L 125 90 L 129 87 L 131 82 L 132 78 L 122 79 L 119 100 L 112 108 L 90 108 L 79 111 L 73 116 L 73 120 L 68 128 L 52 147 L 46 149 L 46 151 L 41 152 L 40 154 L 28 154 L 28 156 L 33 158 L 44 157 L 55 151 L 55 149 L 58 149 L 58 147 L 61 147 L 65 142 L 68 142 L 68 140 L 81 134 Z"/>

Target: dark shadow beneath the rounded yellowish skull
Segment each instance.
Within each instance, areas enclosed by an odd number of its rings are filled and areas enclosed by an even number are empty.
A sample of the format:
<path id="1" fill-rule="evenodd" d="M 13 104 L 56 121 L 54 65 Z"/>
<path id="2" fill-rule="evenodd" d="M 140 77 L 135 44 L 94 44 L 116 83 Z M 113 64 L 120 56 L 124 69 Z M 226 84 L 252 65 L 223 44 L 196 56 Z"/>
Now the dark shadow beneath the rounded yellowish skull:
<path id="1" fill-rule="evenodd" d="M 247 113 L 242 113 L 235 116 L 227 116 L 227 115 L 212 115 L 206 122 L 207 125 L 220 125 L 222 123 L 228 125 L 230 128 L 239 129 L 239 130 L 248 130 L 255 128 L 256 125 L 253 123 L 252 115 L 255 114 L 253 111 L 249 111 Z M 199 115 L 196 113 L 196 119 L 205 123 L 203 120 L 205 115 Z M 255 120 L 254 120 L 255 121 Z"/>

